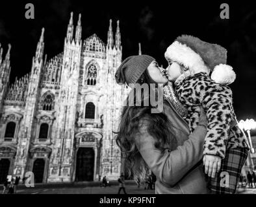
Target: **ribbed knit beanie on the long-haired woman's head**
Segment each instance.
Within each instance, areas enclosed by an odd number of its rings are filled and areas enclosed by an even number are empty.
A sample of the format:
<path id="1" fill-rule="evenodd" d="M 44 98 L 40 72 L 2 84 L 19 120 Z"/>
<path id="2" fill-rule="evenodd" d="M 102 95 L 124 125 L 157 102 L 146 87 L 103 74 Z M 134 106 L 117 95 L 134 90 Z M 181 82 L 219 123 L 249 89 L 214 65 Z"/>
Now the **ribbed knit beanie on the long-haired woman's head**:
<path id="1" fill-rule="evenodd" d="M 147 55 L 130 56 L 126 58 L 116 71 L 116 83 L 120 85 L 124 83 L 127 83 L 127 85 L 136 83 L 154 60 L 155 58 Z"/>

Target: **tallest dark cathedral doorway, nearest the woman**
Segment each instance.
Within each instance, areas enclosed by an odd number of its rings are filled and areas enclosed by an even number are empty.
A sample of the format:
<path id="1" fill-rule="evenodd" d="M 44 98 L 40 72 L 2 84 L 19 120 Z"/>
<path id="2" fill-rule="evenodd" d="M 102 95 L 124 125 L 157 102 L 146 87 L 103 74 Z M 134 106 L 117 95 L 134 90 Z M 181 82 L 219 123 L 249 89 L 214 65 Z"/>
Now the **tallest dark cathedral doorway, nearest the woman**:
<path id="1" fill-rule="evenodd" d="M 81 147 L 77 151 L 75 181 L 94 180 L 94 149 Z"/>

